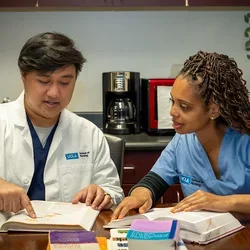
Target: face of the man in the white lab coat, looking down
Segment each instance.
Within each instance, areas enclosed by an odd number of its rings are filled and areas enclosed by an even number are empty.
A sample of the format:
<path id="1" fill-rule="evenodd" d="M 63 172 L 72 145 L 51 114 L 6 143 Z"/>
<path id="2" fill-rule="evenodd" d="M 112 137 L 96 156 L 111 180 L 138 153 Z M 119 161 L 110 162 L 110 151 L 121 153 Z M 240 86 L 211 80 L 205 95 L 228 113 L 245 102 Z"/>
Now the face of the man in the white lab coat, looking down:
<path id="1" fill-rule="evenodd" d="M 36 126 L 53 125 L 60 112 L 69 104 L 76 82 L 74 65 L 64 66 L 52 73 L 32 71 L 22 75 L 24 104 Z"/>

